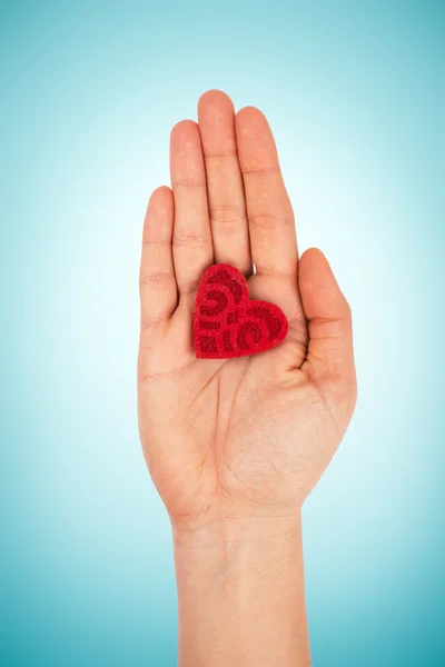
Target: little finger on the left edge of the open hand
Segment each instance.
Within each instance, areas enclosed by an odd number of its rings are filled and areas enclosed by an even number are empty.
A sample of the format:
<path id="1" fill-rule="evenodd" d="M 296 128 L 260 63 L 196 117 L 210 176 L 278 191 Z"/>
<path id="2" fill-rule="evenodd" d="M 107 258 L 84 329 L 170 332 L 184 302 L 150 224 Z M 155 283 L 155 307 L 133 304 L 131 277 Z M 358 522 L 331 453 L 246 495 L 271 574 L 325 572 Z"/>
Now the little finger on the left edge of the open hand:
<path id="1" fill-rule="evenodd" d="M 144 222 L 139 280 L 142 335 L 168 320 L 177 305 L 172 229 L 174 198 L 170 188 L 162 186 L 152 192 Z"/>

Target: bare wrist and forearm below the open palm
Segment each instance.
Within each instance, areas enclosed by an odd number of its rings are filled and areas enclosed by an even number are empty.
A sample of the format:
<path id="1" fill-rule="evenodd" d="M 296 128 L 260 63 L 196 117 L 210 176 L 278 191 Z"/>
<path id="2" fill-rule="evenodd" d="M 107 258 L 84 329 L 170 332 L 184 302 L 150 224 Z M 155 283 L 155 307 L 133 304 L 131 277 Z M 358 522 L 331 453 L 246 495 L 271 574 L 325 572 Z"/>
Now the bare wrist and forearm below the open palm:
<path id="1" fill-rule="evenodd" d="M 180 667 L 310 665 L 300 520 L 174 527 Z"/>

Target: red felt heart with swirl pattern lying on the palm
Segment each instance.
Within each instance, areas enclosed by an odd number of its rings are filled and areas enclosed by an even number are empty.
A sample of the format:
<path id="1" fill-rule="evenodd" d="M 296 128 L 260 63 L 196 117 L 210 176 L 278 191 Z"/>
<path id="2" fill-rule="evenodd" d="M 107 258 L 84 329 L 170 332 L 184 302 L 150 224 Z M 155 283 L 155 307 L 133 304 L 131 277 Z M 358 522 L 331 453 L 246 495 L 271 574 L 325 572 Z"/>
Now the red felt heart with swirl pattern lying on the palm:
<path id="1" fill-rule="evenodd" d="M 214 265 L 198 287 L 194 313 L 197 358 L 256 355 L 286 338 L 288 322 L 274 303 L 249 299 L 246 278 L 230 265 Z"/>

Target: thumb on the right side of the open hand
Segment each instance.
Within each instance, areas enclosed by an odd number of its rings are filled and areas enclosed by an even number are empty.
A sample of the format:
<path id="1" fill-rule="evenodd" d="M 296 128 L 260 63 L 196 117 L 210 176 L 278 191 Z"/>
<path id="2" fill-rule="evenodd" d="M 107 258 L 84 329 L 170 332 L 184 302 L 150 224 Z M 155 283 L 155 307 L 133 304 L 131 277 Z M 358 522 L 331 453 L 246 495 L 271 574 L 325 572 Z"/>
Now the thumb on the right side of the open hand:
<path id="1" fill-rule="evenodd" d="M 309 327 L 303 370 L 317 384 L 345 388 L 355 395 L 356 377 L 350 308 L 323 252 L 304 252 L 298 269 L 299 290 Z"/>

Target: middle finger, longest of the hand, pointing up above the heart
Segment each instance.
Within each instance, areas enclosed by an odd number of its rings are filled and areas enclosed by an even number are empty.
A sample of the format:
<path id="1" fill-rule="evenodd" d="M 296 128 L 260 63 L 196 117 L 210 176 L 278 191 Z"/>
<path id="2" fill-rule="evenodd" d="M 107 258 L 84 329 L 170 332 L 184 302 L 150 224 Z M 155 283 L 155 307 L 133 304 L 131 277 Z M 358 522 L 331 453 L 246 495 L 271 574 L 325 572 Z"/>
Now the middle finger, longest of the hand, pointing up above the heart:
<path id="1" fill-rule="evenodd" d="M 220 90 L 205 92 L 198 102 L 198 120 L 215 261 L 230 263 L 247 276 L 251 272 L 249 231 L 230 98 Z"/>

